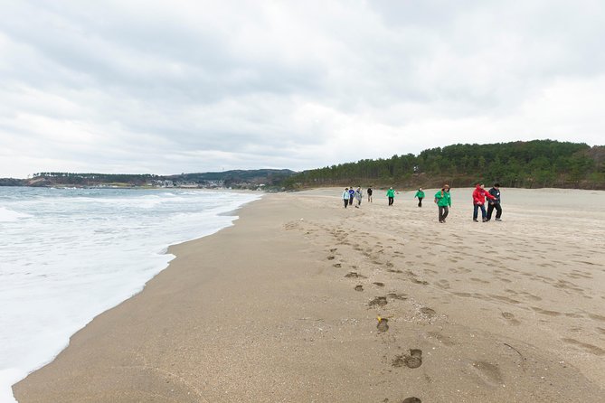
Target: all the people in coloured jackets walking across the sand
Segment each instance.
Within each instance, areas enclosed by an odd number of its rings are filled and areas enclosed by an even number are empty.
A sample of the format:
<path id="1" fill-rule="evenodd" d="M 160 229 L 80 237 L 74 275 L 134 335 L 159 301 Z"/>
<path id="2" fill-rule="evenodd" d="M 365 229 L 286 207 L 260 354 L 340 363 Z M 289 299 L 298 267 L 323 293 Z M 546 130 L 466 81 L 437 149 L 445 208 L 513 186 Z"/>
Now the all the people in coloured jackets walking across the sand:
<path id="1" fill-rule="evenodd" d="M 390 187 L 386 191 L 386 197 L 389 201 L 389 206 L 392 206 L 395 201 L 395 191 Z M 372 202 L 372 188 L 367 189 L 368 202 Z M 418 199 L 418 207 L 422 207 L 422 200 L 425 198 L 424 191 L 419 188 L 414 198 Z M 356 190 L 351 188 L 345 188 L 343 192 L 343 201 L 345 202 L 345 209 L 347 206 L 352 206 L 354 200 L 356 201 L 355 208 L 359 208 L 362 204 L 363 191 L 361 186 L 357 187 Z M 494 183 L 494 186 L 486 191 L 484 183 L 478 183 L 472 194 L 473 199 L 473 221 L 478 222 L 478 211 L 481 210 L 481 220 L 487 222 L 492 219 L 492 214 L 496 210 L 496 221 L 501 221 L 502 217 L 502 206 L 500 205 L 500 184 Z M 486 199 L 487 199 L 487 211 L 486 211 Z M 441 190 L 435 193 L 435 204 L 437 204 L 439 211 L 440 223 L 445 223 L 448 218 L 449 208 L 451 207 L 451 195 L 449 193 L 449 185 L 445 184 Z"/>

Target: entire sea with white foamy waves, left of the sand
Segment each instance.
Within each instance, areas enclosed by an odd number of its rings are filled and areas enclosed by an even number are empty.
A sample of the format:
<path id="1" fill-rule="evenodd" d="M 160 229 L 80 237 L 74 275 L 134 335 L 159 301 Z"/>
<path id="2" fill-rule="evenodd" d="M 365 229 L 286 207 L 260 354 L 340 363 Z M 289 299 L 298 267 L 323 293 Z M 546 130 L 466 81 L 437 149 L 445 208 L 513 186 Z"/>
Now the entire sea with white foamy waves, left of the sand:
<path id="1" fill-rule="evenodd" d="M 97 314 L 139 292 L 168 246 L 232 225 L 258 194 L 0 187 L 0 403 Z"/>

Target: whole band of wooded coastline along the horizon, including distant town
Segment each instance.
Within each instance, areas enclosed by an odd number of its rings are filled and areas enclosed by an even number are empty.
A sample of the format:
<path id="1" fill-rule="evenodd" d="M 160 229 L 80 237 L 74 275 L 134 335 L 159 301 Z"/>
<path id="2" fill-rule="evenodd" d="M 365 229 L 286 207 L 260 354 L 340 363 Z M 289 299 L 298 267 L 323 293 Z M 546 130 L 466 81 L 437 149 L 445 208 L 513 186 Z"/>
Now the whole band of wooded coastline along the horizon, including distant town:
<path id="1" fill-rule="evenodd" d="M 321 186 L 473 186 L 605 190 L 605 146 L 553 140 L 487 145 L 457 144 L 419 155 L 392 155 L 310 169 L 232 170 L 214 173 L 112 174 L 34 173 L 28 179 L 0 178 L 0 186 L 201 187 L 297 190 Z"/>

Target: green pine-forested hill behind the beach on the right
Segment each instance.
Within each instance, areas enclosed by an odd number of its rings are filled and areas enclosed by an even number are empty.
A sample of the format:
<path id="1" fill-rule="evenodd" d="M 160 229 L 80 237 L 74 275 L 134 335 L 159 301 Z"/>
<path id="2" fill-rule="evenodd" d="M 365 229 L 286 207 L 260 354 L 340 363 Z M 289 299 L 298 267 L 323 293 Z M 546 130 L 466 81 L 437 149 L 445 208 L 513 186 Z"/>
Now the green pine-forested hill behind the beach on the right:
<path id="1" fill-rule="evenodd" d="M 290 189 L 309 186 L 397 186 L 400 189 L 473 186 L 605 189 L 605 146 L 552 140 L 448 145 L 419 155 L 393 155 L 312 169 L 288 178 Z"/>

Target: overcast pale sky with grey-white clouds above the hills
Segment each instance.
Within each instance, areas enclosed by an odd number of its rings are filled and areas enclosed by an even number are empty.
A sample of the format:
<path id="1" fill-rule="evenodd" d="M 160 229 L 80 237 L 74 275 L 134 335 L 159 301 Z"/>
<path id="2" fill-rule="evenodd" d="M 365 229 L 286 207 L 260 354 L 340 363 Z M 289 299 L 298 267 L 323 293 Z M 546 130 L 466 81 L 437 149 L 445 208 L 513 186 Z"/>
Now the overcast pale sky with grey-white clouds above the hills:
<path id="1" fill-rule="evenodd" d="M 0 177 L 605 144 L 605 2 L 0 0 Z"/>

